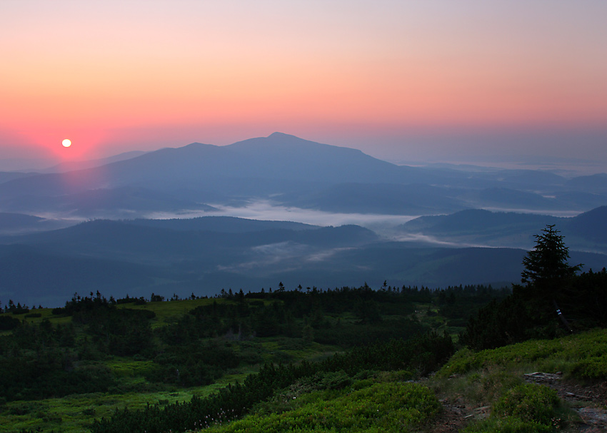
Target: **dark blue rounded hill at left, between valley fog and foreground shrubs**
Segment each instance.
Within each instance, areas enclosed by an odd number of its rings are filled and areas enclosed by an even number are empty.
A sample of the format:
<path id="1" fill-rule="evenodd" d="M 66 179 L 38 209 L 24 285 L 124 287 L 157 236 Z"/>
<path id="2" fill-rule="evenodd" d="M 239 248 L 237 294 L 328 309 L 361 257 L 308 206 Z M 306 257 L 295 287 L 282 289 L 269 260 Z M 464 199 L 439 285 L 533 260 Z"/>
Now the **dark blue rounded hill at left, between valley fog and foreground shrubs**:
<path id="1" fill-rule="evenodd" d="M 199 230 L 213 226 L 222 231 Z M 156 291 L 170 297 L 193 290 L 212 295 L 224 286 L 275 285 L 282 272 L 293 270 L 309 278 L 319 266 L 314 279 L 320 283 L 326 275 L 341 275 L 331 269 L 331 255 L 377 240 L 373 232 L 355 225 L 322 228 L 239 218 L 149 225 L 142 220 L 93 220 L 1 238 L 0 299 L 51 302 L 54 296 L 60 305 L 83 290 L 116 296 Z"/>

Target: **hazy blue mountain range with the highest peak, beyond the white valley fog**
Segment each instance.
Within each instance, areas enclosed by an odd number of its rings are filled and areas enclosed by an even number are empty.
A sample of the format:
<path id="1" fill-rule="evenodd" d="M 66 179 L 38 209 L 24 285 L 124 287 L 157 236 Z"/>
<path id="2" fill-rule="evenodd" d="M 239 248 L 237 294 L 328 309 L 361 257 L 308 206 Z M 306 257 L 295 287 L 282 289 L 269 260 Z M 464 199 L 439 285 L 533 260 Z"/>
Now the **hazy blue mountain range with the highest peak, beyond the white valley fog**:
<path id="1" fill-rule="evenodd" d="M 401 166 L 284 133 L 114 159 L 55 168 L 62 173 L 7 175 L 0 211 L 124 218 L 268 200 L 337 213 L 427 215 L 466 208 L 583 211 L 607 203 L 602 175 L 567 180 L 546 171 Z M 135 193 L 142 190 L 149 193 Z M 104 205 L 91 203 L 96 198 Z"/>

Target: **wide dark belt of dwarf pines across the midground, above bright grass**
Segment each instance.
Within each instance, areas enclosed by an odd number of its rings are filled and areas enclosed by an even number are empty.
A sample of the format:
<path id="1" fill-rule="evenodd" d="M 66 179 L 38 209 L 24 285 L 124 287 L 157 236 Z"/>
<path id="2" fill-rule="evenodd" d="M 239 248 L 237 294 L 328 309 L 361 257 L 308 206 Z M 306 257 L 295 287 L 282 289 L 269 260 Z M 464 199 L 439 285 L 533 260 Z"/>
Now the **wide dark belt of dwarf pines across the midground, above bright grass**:
<path id="1" fill-rule="evenodd" d="M 224 291 L 155 330 L 154 312 L 129 305 L 163 302 L 159 295 L 152 294 L 150 300 L 108 299 L 99 292 L 74 295 L 64 307 L 52 310 L 56 317 L 71 317 L 66 324 L 34 324 L 12 312 L 0 315 L 0 325 L 11 330 L 0 336 L 0 404 L 78 392 L 127 392 L 104 365 L 113 355 L 151 361 L 144 372 L 151 387 L 210 384 L 231 368 L 263 362 L 258 351 L 231 342 L 289 337 L 301 344 L 348 348 L 407 339 L 428 330 L 406 317 L 418 302 L 429 302 L 433 310 L 448 311 L 461 321 L 466 311 L 506 295 L 505 290 L 484 286 L 286 290 L 279 285 L 268 292 Z M 174 296 L 168 302 L 176 300 Z"/>

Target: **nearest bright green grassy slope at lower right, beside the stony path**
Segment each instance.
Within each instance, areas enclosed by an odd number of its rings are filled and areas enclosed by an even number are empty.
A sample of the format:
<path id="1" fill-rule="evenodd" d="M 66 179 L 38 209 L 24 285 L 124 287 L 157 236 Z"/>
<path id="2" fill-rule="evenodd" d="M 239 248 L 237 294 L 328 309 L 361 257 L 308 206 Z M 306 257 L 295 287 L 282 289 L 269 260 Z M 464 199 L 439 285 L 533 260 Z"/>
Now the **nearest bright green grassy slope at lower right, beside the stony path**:
<path id="1" fill-rule="evenodd" d="M 256 412 L 205 429 L 239 432 L 434 432 L 438 404 L 457 402 L 485 409 L 468 418 L 468 433 L 574 431 L 576 414 L 543 385 L 525 384 L 529 372 L 563 372 L 564 378 L 607 378 L 607 330 L 557 340 L 537 340 L 471 352 L 460 350 L 423 384 L 403 382 L 398 372 L 354 380 L 336 390 L 284 389 Z M 305 387 L 303 387 L 305 388 Z M 493 412 L 485 418 L 487 412 Z"/>

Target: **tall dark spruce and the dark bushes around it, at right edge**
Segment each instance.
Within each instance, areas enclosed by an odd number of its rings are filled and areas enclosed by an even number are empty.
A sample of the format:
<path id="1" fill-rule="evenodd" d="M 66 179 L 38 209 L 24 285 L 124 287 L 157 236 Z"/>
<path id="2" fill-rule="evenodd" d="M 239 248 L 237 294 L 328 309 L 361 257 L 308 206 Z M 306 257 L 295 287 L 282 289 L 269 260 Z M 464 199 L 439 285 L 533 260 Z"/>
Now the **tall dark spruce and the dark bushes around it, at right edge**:
<path id="1" fill-rule="evenodd" d="M 530 339 L 551 339 L 593 327 L 607 327 L 607 270 L 583 272 L 568 264 L 568 248 L 553 225 L 536 235 L 523 260 L 521 284 L 511 295 L 473 315 L 460 341 L 475 350 Z"/>

